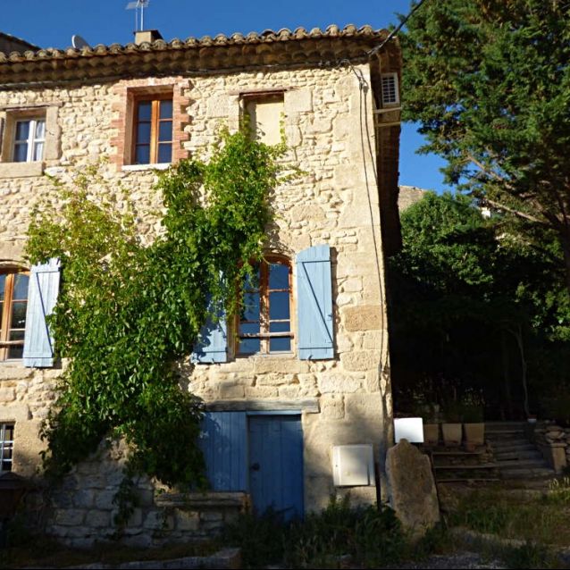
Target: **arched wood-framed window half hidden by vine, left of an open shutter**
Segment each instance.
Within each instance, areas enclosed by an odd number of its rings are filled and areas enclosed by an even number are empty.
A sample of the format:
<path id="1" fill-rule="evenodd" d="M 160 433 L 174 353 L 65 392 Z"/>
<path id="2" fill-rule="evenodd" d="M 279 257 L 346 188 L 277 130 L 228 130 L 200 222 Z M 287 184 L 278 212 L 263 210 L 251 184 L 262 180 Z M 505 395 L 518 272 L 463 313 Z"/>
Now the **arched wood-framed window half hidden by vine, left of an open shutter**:
<path id="1" fill-rule="evenodd" d="M 240 355 L 290 352 L 291 268 L 279 258 L 256 266 L 256 279 L 244 287 L 239 315 Z"/>

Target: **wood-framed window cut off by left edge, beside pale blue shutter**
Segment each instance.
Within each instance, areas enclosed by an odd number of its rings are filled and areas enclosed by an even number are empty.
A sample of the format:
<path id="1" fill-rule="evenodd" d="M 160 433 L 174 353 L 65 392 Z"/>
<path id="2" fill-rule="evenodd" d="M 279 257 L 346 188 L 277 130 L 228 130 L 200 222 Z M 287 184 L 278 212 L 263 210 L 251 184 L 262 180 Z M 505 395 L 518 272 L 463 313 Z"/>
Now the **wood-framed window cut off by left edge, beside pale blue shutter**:
<path id="1" fill-rule="evenodd" d="M 0 360 L 22 357 L 28 284 L 27 272 L 12 269 L 0 273 Z"/>

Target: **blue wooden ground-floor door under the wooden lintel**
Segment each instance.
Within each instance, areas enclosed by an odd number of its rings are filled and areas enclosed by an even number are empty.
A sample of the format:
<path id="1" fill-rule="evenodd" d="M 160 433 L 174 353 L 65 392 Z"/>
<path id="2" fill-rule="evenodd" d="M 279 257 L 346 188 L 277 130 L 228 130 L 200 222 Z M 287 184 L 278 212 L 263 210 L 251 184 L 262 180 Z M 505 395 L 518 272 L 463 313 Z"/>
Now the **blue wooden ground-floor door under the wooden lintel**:
<path id="1" fill-rule="evenodd" d="M 303 516 L 303 432 L 300 415 L 250 415 L 249 490 L 259 515 Z"/>

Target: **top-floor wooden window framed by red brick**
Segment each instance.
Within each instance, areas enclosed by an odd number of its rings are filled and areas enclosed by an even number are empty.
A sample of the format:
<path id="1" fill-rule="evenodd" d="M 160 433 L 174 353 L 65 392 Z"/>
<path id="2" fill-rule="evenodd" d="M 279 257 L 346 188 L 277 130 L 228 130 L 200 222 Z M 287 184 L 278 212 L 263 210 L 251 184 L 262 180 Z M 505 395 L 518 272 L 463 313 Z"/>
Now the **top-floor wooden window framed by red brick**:
<path id="1" fill-rule="evenodd" d="M 135 101 L 132 163 L 172 162 L 172 94 Z"/>

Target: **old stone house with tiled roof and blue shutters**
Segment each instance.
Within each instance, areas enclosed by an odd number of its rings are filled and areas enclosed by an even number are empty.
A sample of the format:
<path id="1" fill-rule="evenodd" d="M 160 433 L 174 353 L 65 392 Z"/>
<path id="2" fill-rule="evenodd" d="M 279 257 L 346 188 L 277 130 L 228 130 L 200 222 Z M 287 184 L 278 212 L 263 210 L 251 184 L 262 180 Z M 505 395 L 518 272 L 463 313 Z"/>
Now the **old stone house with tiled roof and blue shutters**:
<path id="1" fill-rule="evenodd" d="M 215 331 L 189 366 L 208 410 L 213 492 L 167 508 L 141 480 L 131 541 L 155 543 L 159 526 L 206 532 L 245 498 L 286 516 L 334 492 L 377 500 L 391 444 L 384 256 L 398 247 L 401 58 L 396 40 L 381 46 L 387 35 L 331 26 L 166 42 L 151 31 L 127 46 L 0 53 L 4 471 L 37 472 L 38 427 L 61 370 L 44 314 L 64 267 L 22 257 L 30 209 L 53 191 L 44 174 L 107 156 L 105 180 L 132 190 L 150 241 L 160 231 L 155 170 L 204 150 L 247 112 L 266 142 L 282 126 L 305 174 L 274 191 L 279 216 L 247 315 Z M 112 525 L 120 455 L 78 466 L 54 494 L 50 532 L 85 544 Z"/>

